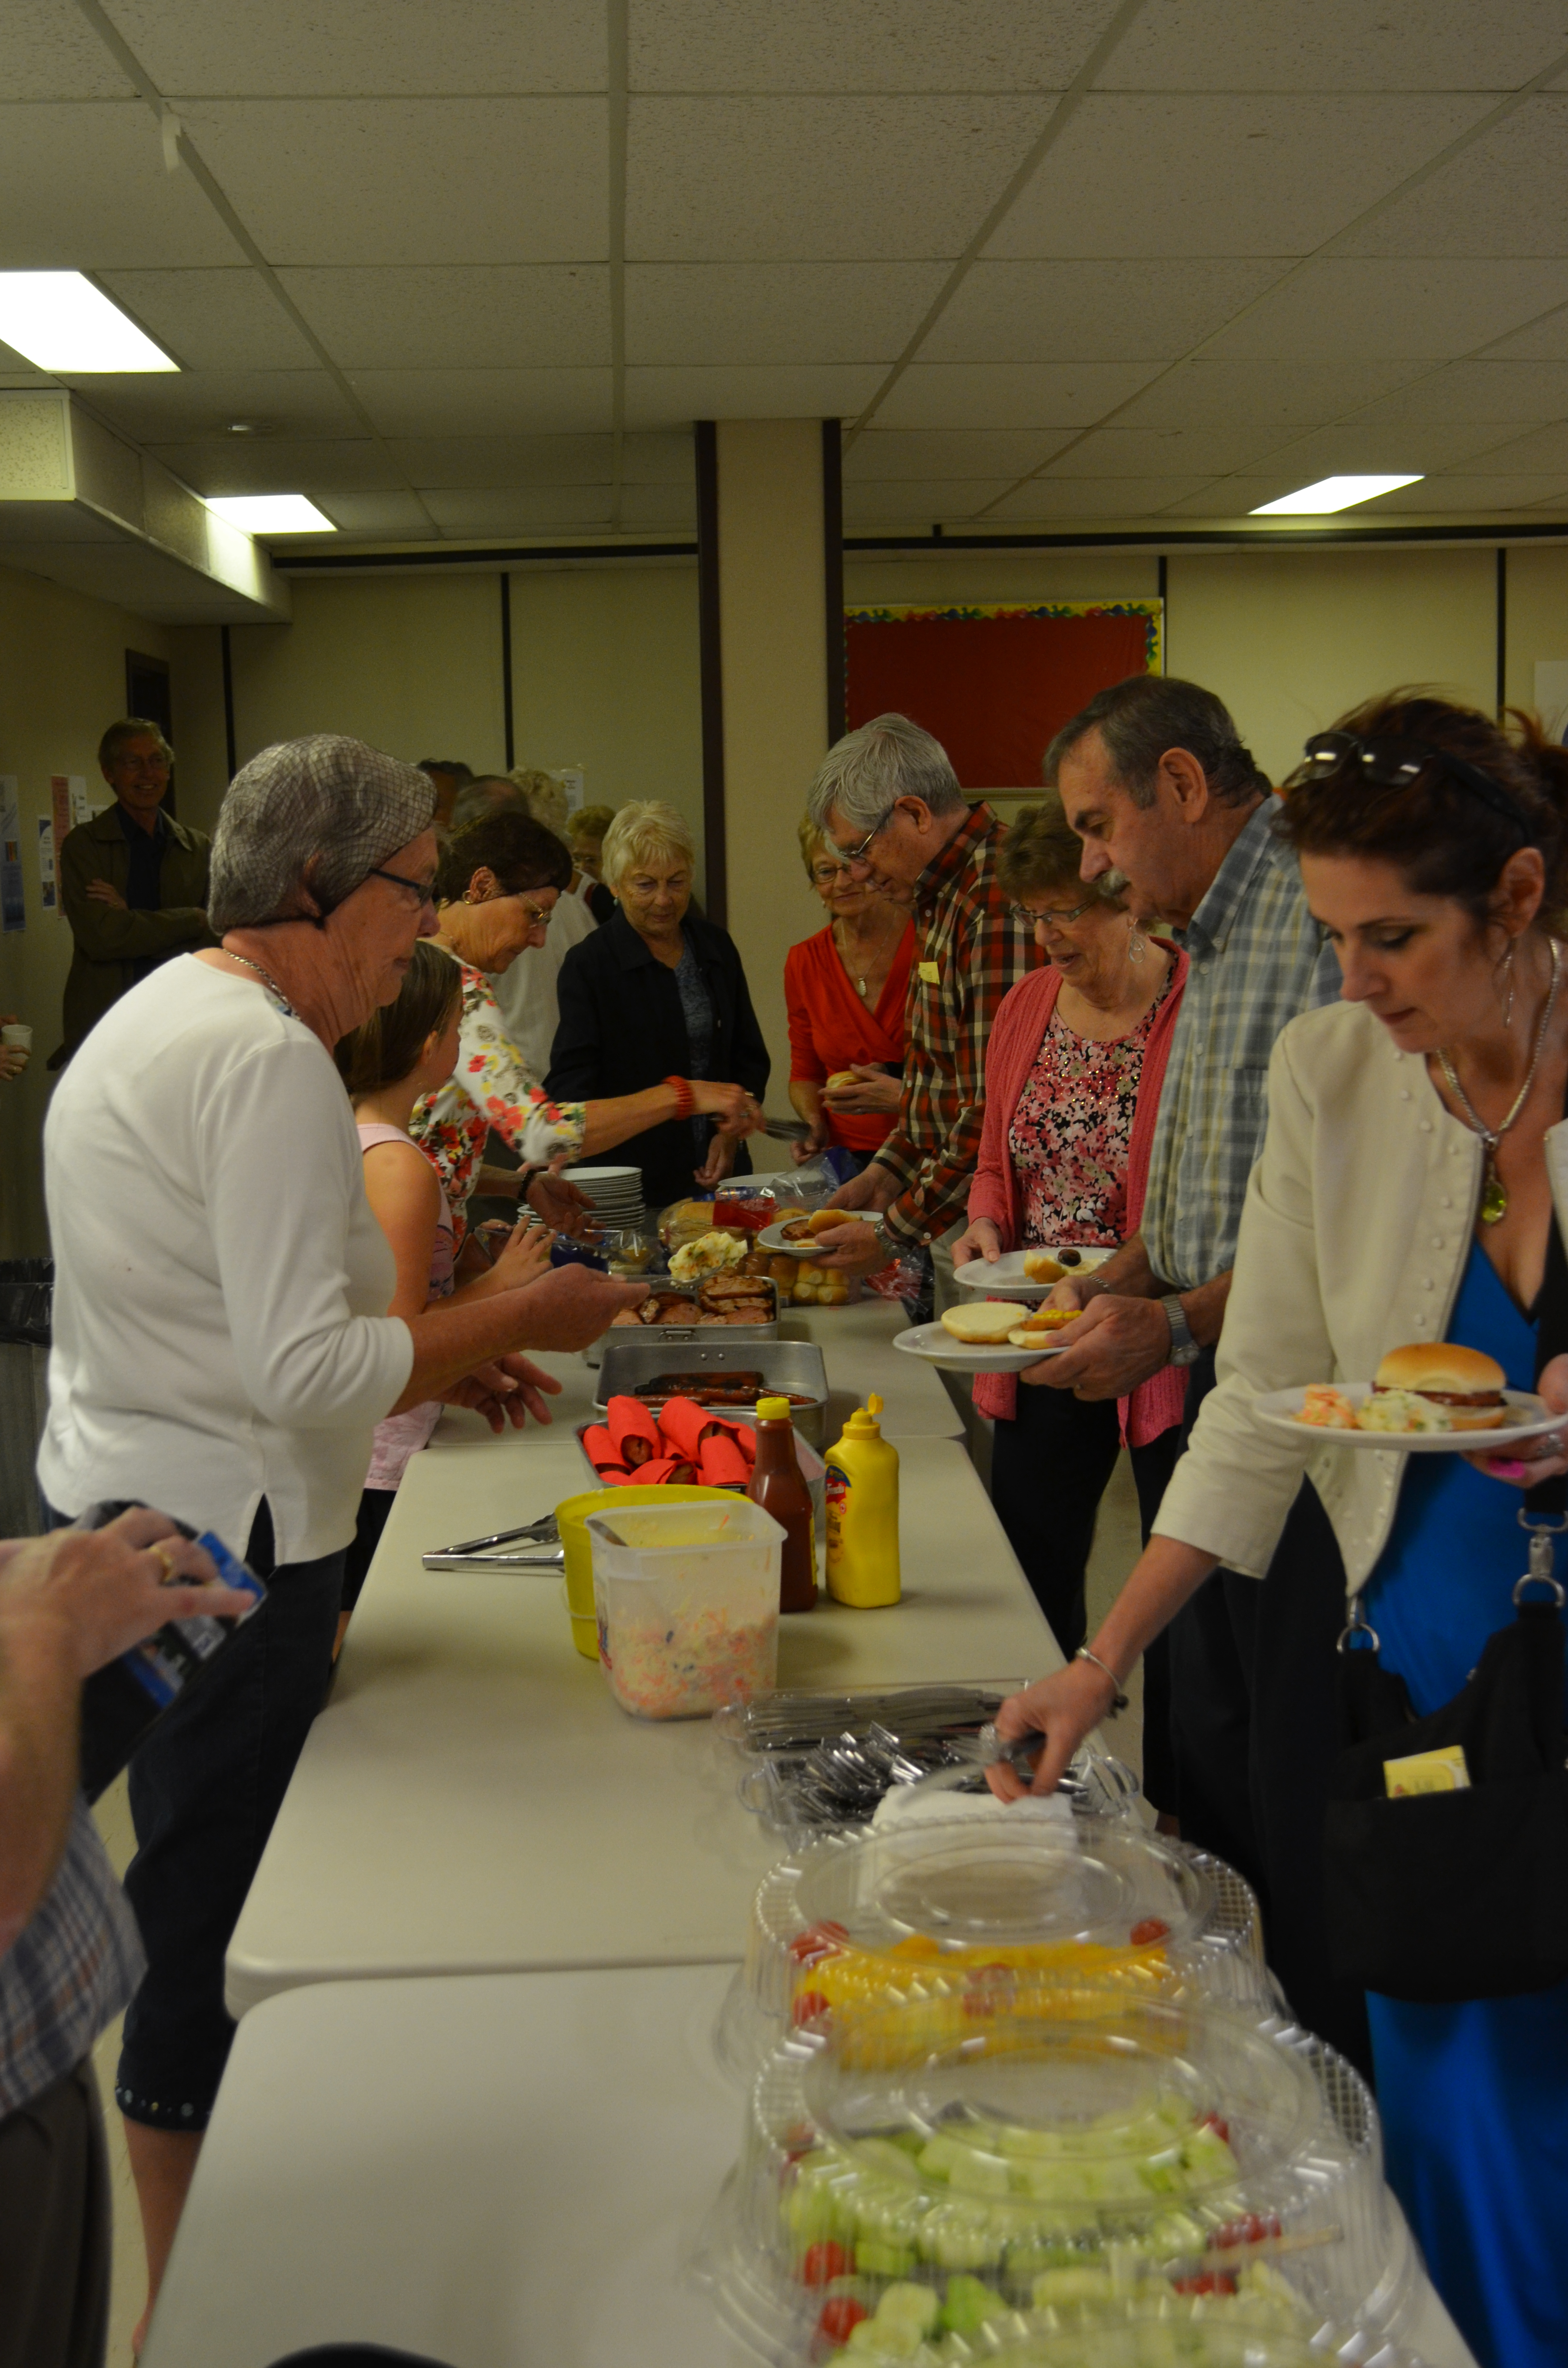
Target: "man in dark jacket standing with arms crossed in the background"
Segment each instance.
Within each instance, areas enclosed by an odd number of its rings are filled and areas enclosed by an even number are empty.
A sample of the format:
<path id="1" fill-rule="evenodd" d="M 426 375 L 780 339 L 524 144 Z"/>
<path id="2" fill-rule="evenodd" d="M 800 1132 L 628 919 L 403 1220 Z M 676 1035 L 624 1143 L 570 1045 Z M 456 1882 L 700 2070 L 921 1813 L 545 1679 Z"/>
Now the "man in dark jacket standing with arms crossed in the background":
<path id="1" fill-rule="evenodd" d="M 211 841 L 163 812 L 173 748 L 156 725 L 109 725 L 97 762 L 114 805 L 78 822 L 59 850 L 59 900 L 76 952 L 64 992 L 62 1068 L 88 1028 L 171 954 L 216 945 L 206 926 Z"/>

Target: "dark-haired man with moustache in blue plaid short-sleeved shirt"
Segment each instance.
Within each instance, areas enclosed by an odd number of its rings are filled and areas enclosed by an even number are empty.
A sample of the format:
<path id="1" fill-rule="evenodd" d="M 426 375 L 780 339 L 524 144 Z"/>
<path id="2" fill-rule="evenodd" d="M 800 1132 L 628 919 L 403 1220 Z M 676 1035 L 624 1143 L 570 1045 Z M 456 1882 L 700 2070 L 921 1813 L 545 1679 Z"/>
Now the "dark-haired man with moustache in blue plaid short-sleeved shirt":
<path id="1" fill-rule="evenodd" d="M 1191 1426 L 1215 1378 L 1274 1037 L 1338 997 L 1338 959 L 1274 838 L 1279 798 L 1213 691 L 1161 675 L 1118 682 L 1056 734 L 1047 779 L 1085 843 L 1082 876 L 1120 869 L 1132 912 L 1161 914 L 1191 969 L 1142 1229 L 1092 1281 L 1056 1288 L 1085 1319 L 1023 1378 L 1120 1397 L 1163 1364 L 1187 1366 Z M 1300 2020 L 1367 2060 L 1360 1991 L 1326 1970 L 1322 1830 L 1293 1809 L 1326 1790 L 1300 1778 L 1334 1740 L 1343 1601 L 1334 1530 L 1307 1482 L 1267 1582 L 1217 1570 L 1172 1620 L 1170 1743 L 1184 1840 L 1260 1894 L 1270 1963 Z"/>

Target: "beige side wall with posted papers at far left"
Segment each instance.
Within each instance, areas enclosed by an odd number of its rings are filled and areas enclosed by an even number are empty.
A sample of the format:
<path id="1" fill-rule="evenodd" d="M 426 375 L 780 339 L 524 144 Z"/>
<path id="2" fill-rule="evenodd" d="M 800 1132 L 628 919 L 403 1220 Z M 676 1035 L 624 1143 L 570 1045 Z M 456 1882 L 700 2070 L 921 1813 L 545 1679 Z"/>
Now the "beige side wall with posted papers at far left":
<path id="1" fill-rule="evenodd" d="M 109 789 L 97 770 L 104 725 L 126 713 L 126 651 L 168 656 L 168 635 L 144 616 L 64 592 L 43 575 L 0 568 L 0 772 L 17 774 L 26 928 L 0 935 L 0 1011 L 33 1028 L 33 1061 L 0 1085 L 0 1255 L 47 1250 L 40 1130 L 59 1044 L 59 995 L 71 931 L 38 902 L 38 822 L 50 812 L 50 774 L 81 772 L 95 805 Z"/>

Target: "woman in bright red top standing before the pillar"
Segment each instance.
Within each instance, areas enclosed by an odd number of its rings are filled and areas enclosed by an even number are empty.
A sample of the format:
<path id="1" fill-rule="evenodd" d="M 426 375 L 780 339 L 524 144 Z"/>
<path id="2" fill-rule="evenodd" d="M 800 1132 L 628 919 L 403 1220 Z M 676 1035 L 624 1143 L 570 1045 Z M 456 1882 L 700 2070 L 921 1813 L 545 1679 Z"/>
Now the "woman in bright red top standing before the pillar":
<path id="1" fill-rule="evenodd" d="M 793 1156 L 801 1163 L 841 1144 L 860 1170 L 886 1144 L 902 1099 L 914 924 L 902 905 L 850 879 L 810 817 L 801 855 L 829 921 L 784 957 L 789 1099 L 810 1130 Z M 855 1070 L 855 1082 L 829 1089 L 843 1070 Z"/>

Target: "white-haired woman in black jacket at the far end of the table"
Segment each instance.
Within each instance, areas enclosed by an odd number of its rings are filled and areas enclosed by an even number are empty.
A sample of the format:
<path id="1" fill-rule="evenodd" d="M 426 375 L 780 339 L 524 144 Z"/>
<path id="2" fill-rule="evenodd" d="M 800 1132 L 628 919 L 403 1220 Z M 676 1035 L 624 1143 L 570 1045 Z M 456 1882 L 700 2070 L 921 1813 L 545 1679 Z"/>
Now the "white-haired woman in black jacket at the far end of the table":
<path id="1" fill-rule="evenodd" d="M 744 1130 L 701 1113 L 696 1080 L 739 1085 L 753 1127 L 767 1089 L 741 957 L 727 931 L 689 909 L 694 869 L 692 834 L 673 805 L 623 805 L 604 834 L 604 886 L 621 909 L 573 945 L 557 983 L 561 1023 L 545 1080 L 557 1101 L 658 1082 L 677 1089 L 673 1118 L 621 1144 L 642 1170 L 649 1208 L 685 1198 L 692 1179 L 751 1172 Z"/>

